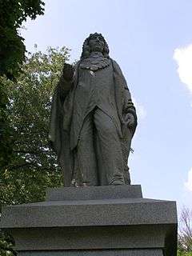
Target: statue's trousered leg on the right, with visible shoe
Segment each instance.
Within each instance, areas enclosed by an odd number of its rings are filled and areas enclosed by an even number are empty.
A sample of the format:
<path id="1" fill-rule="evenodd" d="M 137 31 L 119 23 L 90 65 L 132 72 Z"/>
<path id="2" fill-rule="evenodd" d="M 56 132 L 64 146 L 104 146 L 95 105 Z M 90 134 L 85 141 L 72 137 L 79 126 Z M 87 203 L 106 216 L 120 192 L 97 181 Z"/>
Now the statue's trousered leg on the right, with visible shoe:
<path id="1" fill-rule="evenodd" d="M 101 185 L 124 185 L 122 146 L 113 120 L 102 110 L 94 112 L 94 125 L 98 136 L 98 169 Z M 103 181 L 103 172 L 106 179 Z M 106 183 L 105 183 L 106 182 Z"/>

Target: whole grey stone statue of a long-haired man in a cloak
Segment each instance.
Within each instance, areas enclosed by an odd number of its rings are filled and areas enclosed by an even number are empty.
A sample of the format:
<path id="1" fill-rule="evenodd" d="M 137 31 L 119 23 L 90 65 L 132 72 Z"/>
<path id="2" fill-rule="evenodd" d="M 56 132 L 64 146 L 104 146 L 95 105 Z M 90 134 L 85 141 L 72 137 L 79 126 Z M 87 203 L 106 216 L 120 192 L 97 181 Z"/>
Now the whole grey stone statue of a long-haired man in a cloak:
<path id="1" fill-rule="evenodd" d="M 52 102 L 50 141 L 65 186 L 130 184 L 127 160 L 136 126 L 122 71 L 102 34 L 90 34 L 80 61 L 64 64 Z"/>

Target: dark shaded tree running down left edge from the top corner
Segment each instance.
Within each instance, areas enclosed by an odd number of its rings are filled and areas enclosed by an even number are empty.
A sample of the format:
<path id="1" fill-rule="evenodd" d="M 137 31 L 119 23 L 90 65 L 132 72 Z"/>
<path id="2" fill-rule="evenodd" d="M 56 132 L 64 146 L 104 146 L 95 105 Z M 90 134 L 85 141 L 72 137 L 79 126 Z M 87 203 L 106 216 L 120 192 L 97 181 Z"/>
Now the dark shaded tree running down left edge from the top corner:
<path id="1" fill-rule="evenodd" d="M 43 14 L 43 6 L 40 0 L 0 0 L 0 167 L 10 161 L 12 150 L 5 78 L 15 80 L 25 60 L 24 38 L 19 34 L 22 22 Z"/>

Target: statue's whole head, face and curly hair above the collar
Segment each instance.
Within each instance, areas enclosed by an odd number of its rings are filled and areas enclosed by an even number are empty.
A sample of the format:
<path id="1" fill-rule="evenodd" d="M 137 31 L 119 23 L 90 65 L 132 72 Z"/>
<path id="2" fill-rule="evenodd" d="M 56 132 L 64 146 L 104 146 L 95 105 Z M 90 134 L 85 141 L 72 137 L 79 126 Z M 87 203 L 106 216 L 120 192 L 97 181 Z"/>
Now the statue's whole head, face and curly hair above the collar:
<path id="1" fill-rule="evenodd" d="M 88 58 L 92 51 L 102 52 L 104 57 L 110 58 L 110 50 L 102 34 L 94 33 L 90 34 L 89 38 L 86 38 L 82 46 L 81 59 Z"/>

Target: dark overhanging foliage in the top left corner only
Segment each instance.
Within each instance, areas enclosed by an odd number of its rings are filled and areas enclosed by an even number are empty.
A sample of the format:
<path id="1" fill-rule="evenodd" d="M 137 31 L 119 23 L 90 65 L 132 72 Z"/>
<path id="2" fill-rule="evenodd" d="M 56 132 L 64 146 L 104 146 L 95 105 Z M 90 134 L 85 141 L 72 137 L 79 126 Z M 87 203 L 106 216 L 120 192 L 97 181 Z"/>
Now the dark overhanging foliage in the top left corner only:
<path id="1" fill-rule="evenodd" d="M 25 58 L 24 38 L 18 29 L 29 17 L 43 14 L 41 0 L 0 0 L 0 75 L 15 78 Z"/>

